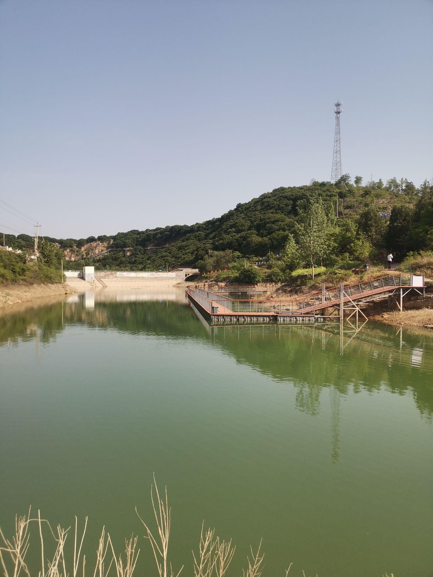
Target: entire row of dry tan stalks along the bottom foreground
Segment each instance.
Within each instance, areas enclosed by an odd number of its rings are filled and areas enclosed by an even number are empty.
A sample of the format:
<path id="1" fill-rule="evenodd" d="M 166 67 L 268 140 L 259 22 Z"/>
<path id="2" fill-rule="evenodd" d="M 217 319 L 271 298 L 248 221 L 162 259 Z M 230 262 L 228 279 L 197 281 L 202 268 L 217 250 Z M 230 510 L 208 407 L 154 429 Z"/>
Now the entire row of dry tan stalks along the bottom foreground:
<path id="1" fill-rule="evenodd" d="M 161 497 L 158 491 L 154 477 L 154 485 L 151 486 L 151 501 L 155 516 L 156 530 L 152 532 L 147 523 L 141 519 L 147 532 L 152 552 L 154 553 L 156 571 L 158 577 L 179 577 L 183 566 L 179 571 L 173 571 L 173 567 L 168 559 L 169 537 L 170 537 L 170 507 L 167 498 L 167 488 L 165 494 Z M 155 496 L 154 496 L 155 490 Z M 73 554 L 72 557 L 65 554 L 65 542 L 69 535 L 70 527 L 62 529 L 58 525 L 55 530 L 51 527 L 46 519 L 41 519 L 40 512 L 38 516 L 32 518 L 31 509 L 24 516 L 16 516 L 15 531 L 12 538 L 8 538 L 0 527 L 0 563 L 3 569 L 4 577 L 19 577 L 20 574 L 27 577 L 36 577 L 36 573 L 31 572 L 25 563 L 25 556 L 29 548 L 30 524 L 36 524 L 39 531 L 40 542 L 40 569 L 38 577 L 85 577 L 86 575 L 86 557 L 81 554 L 84 542 L 85 531 L 87 529 L 87 517 L 84 520 L 83 530 L 78 529 L 78 520 L 75 518 L 75 527 L 73 531 Z M 48 532 L 54 539 L 54 554 L 50 557 L 45 556 L 43 527 L 48 528 Z M 52 545 L 52 543 L 51 543 Z M 204 523 L 201 526 L 201 535 L 199 550 L 197 554 L 192 552 L 194 577 L 224 577 L 229 565 L 233 559 L 236 547 L 230 541 L 220 539 L 215 535 L 215 529 L 204 529 Z M 243 570 L 243 577 L 260 577 L 263 571 L 264 553 L 261 551 L 262 541 L 256 552 L 251 548 L 251 557 L 247 557 L 247 569 Z M 125 552 L 119 554 L 114 551 L 110 534 L 106 533 L 105 527 L 102 527 L 102 533 L 99 538 L 98 548 L 96 549 L 96 561 L 92 565 L 93 577 L 107 577 L 110 569 L 114 566 L 112 574 L 116 577 L 132 577 L 136 568 L 137 559 L 140 549 L 137 550 L 137 537 L 132 535 L 129 540 L 125 541 Z M 289 576 L 289 568 L 286 569 L 286 577 Z M 303 571 L 303 577 L 307 577 Z M 316 576 L 317 577 L 317 576 Z M 391 575 L 382 575 L 382 577 L 394 577 Z"/>

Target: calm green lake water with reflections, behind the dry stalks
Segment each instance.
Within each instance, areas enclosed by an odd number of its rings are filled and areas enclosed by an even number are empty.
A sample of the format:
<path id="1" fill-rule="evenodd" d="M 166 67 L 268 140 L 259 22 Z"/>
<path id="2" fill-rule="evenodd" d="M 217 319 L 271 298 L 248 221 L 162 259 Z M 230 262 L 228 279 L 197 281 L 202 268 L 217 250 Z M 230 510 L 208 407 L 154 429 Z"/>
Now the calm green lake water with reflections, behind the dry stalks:
<path id="1" fill-rule="evenodd" d="M 155 575 L 134 510 L 155 473 L 184 575 L 204 519 L 227 577 L 262 537 L 264 577 L 431 577 L 433 338 L 344 328 L 210 328 L 171 288 L 0 316 L 0 525 L 88 515 L 89 566 L 105 525 Z"/>

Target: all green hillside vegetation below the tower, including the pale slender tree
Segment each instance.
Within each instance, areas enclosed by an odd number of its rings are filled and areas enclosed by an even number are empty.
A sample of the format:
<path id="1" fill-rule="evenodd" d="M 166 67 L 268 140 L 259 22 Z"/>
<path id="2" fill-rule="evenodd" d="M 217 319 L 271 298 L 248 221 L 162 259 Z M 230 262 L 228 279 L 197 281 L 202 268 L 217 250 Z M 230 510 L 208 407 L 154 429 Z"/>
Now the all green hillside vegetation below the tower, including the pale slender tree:
<path id="1" fill-rule="evenodd" d="M 433 250 L 433 187 L 424 181 L 417 188 L 404 178 L 363 185 L 361 177 L 352 183 L 346 174 L 335 185 L 312 181 L 277 188 L 192 226 L 45 240 L 76 254 L 67 268 L 94 264 L 99 269 L 165 270 L 195 265 L 217 280 L 281 283 L 318 273 L 332 276 L 337 269 L 349 271 L 367 263 L 383 266 L 390 250 L 394 261 Z M 83 247 L 96 240 L 132 250 L 128 256 L 121 251 L 80 258 Z M 33 239 L 6 235 L 6 242 L 24 248 L 32 246 Z M 256 262 L 263 263 L 260 270 L 248 267 Z"/>

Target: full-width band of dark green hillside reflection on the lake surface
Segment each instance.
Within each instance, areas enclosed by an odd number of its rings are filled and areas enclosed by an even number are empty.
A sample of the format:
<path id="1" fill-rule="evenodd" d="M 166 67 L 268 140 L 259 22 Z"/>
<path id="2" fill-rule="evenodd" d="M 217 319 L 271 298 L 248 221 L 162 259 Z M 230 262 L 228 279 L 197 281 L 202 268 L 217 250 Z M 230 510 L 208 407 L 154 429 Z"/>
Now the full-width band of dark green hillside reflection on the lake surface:
<path id="1" fill-rule="evenodd" d="M 353 338 L 350 333 L 344 335 L 341 342 L 338 324 L 207 331 L 189 306 L 176 302 L 96 302 L 91 310 L 82 303 L 59 302 L 3 315 L 0 345 L 36 336 L 44 344 L 74 324 L 209 343 L 211 336 L 238 362 L 292 383 L 297 408 L 311 415 L 319 413 L 320 394 L 326 388 L 346 395 L 350 390 L 372 392 L 384 386 L 397 394 L 409 391 L 420 413 L 429 418 L 433 415 L 433 339 L 370 323 Z"/>

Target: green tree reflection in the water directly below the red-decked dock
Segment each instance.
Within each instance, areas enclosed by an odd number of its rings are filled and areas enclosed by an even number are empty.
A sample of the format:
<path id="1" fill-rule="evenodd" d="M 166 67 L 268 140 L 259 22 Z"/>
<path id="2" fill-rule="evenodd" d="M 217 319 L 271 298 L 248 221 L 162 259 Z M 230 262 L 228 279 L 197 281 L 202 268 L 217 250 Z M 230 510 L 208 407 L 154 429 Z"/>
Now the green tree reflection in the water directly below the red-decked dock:
<path id="1" fill-rule="evenodd" d="M 397 329 L 398 331 L 398 329 Z M 305 413 L 320 411 L 320 393 L 335 388 L 349 391 L 410 392 L 421 414 L 433 415 L 433 340 L 428 335 L 400 334 L 394 327 L 371 324 L 340 341 L 335 327 L 225 327 L 215 337 L 240 362 L 296 389 L 296 406 Z M 243 338 L 242 338 L 243 335 Z M 413 350 L 422 360 L 413 364 Z M 342 354 L 341 354 L 342 350 Z"/>

